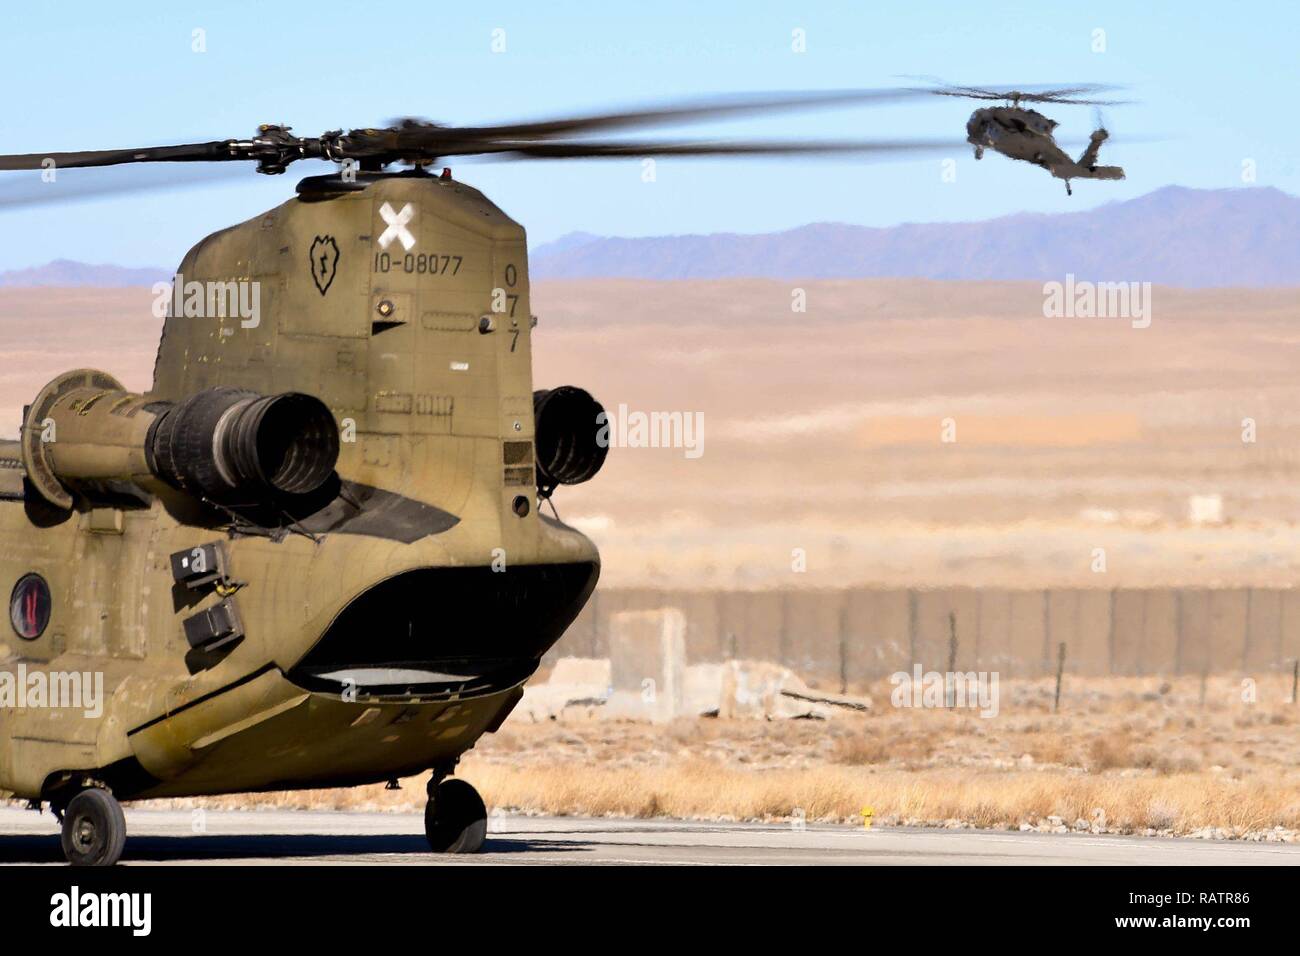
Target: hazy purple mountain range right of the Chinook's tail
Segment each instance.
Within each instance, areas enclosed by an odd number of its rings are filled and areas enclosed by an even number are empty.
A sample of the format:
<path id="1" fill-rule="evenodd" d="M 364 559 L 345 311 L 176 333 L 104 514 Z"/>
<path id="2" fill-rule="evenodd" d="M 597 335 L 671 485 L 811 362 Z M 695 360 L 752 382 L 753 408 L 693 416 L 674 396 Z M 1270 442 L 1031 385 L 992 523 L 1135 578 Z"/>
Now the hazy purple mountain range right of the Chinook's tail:
<path id="1" fill-rule="evenodd" d="M 875 229 L 616 238 L 571 233 L 533 278 L 954 278 L 1300 286 L 1300 199 L 1273 187 L 1166 186 L 1087 212 Z"/>

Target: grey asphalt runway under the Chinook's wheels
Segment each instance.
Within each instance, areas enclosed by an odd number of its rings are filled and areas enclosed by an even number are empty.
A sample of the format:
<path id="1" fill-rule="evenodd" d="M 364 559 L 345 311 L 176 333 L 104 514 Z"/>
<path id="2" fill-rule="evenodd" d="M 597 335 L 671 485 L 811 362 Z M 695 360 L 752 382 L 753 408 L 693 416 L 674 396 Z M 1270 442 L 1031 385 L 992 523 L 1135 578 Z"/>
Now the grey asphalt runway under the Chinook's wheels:
<path id="1" fill-rule="evenodd" d="M 407 813 L 126 810 L 124 864 L 1295 865 L 1300 844 L 494 816 L 484 852 L 436 856 Z M 0 809 L 0 864 L 61 864 L 53 817 Z"/>

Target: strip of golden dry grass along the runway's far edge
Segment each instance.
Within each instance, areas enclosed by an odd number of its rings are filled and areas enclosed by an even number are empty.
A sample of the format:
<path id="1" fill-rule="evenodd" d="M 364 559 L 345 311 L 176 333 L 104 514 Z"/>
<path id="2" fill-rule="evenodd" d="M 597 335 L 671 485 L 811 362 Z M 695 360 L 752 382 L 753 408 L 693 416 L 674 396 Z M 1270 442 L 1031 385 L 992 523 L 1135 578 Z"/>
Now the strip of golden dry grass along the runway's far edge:
<path id="1" fill-rule="evenodd" d="M 802 813 L 810 821 L 855 822 L 864 809 L 884 825 L 945 825 L 1015 829 L 1060 817 L 1102 823 L 1109 831 L 1188 834 L 1222 829 L 1230 836 L 1274 827 L 1300 830 L 1300 790 L 1270 779 L 1234 780 L 1196 773 L 1160 777 L 1045 774 L 1039 771 L 871 770 L 818 766 L 748 771 L 710 761 L 668 767 L 514 767 L 469 760 L 460 774 L 488 804 L 506 812 L 551 816 L 673 817 L 718 821 L 779 821 Z M 207 806 L 417 810 L 424 788 L 412 779 L 402 791 L 361 787 L 168 801 Z"/>

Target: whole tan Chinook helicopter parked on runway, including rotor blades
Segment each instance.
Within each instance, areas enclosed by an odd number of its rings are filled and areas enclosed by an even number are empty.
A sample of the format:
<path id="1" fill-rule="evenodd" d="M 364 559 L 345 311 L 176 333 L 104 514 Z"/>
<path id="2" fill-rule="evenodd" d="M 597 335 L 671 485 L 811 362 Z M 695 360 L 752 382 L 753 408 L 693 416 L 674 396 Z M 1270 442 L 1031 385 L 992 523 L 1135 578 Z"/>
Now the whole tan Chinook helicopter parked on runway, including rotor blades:
<path id="1" fill-rule="evenodd" d="M 606 449 L 592 395 L 534 390 L 524 229 L 426 166 L 952 148 L 582 138 L 905 95 L 0 156 L 341 166 L 190 250 L 148 392 L 69 371 L 0 446 L 0 790 L 49 805 L 68 858 L 103 865 L 124 849 L 124 800 L 429 770 L 430 847 L 478 849 L 484 801 L 448 778 L 595 587 L 592 541 L 540 505 Z M 240 284 L 260 290 L 255 317 L 221 306 Z"/>

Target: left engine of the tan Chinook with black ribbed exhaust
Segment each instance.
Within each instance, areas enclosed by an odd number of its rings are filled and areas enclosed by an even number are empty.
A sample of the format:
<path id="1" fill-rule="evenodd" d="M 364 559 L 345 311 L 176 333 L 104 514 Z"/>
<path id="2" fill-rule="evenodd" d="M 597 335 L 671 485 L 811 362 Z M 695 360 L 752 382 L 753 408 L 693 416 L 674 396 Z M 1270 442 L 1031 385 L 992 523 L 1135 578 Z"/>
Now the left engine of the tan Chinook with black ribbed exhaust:
<path id="1" fill-rule="evenodd" d="M 53 505 L 87 492 L 159 483 L 221 505 L 257 505 L 321 488 L 338 462 L 338 425 L 318 398 L 218 386 L 179 402 L 127 392 L 104 372 L 66 372 L 29 406 L 22 458 Z"/>

